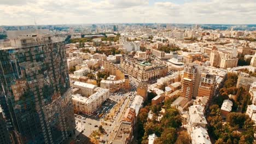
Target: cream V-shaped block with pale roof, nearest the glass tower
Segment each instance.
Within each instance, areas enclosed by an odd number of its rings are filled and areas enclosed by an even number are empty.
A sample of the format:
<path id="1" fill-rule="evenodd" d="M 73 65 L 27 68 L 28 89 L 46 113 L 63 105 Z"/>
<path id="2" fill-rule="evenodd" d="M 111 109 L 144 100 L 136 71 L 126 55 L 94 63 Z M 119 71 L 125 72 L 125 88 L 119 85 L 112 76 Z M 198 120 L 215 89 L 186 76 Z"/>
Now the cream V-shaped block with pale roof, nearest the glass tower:
<path id="1" fill-rule="evenodd" d="M 90 97 L 83 97 L 81 94 L 72 95 L 75 113 L 91 115 L 98 110 L 102 103 L 109 98 L 109 89 L 97 87 Z"/>

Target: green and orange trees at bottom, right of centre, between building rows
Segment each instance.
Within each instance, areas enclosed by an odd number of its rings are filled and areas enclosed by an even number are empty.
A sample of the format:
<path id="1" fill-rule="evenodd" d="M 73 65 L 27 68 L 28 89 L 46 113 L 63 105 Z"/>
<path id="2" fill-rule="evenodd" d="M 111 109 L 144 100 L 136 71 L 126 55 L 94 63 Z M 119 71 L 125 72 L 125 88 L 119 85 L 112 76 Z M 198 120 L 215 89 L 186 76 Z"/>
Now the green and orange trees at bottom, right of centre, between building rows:
<path id="1" fill-rule="evenodd" d="M 155 96 L 154 93 L 149 93 L 148 96 Z M 177 95 L 178 97 L 178 95 Z M 177 98 L 176 97 L 176 98 Z M 158 139 L 154 141 L 156 144 L 160 143 L 190 143 L 190 136 L 187 131 L 181 130 L 182 117 L 179 111 L 171 107 L 173 99 L 166 101 L 165 113 L 161 113 L 162 105 L 147 105 L 139 111 L 136 136 L 138 143 L 148 143 L 148 136 L 155 134 Z M 153 112 L 153 118 L 148 119 L 149 111 Z M 159 114 L 163 115 L 160 121 L 158 121 Z"/>

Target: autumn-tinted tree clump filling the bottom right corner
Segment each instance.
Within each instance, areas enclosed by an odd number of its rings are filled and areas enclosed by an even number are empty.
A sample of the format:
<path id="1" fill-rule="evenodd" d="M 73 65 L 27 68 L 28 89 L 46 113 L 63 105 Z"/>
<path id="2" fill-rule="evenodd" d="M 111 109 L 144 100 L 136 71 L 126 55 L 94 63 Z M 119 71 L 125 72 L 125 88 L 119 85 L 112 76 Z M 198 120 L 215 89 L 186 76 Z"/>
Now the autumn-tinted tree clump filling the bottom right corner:
<path id="1" fill-rule="evenodd" d="M 220 116 L 218 105 L 210 107 L 210 115 L 207 117 L 208 132 L 220 143 L 253 143 L 254 139 L 254 122 L 244 113 L 229 113 L 226 123 Z"/>

